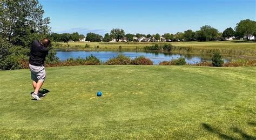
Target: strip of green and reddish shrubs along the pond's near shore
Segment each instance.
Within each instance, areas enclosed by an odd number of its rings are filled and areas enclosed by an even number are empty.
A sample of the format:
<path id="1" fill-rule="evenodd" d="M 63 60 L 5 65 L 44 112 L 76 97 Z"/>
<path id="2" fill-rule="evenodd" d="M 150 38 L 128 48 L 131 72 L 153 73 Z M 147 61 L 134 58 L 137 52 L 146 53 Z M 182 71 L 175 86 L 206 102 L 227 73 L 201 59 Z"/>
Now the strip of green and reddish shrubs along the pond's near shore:
<path id="1" fill-rule="evenodd" d="M 214 57 L 214 56 L 213 56 Z M 213 58 L 212 58 L 213 60 Z M 213 60 L 214 61 L 214 60 Z M 235 60 L 230 62 L 225 62 L 221 58 L 221 55 L 218 54 L 218 60 L 216 62 L 222 61 L 218 66 L 214 65 L 213 61 L 201 61 L 199 63 L 186 63 L 185 58 L 180 57 L 177 59 L 172 59 L 170 61 L 161 61 L 156 65 L 190 65 L 190 66 L 201 66 L 201 67 L 256 67 L 256 60 Z M 20 61 L 21 69 L 28 69 L 29 63 L 28 61 Z M 138 56 L 136 58 L 130 58 L 124 55 L 118 55 L 117 57 L 110 58 L 106 62 L 100 61 L 97 57 L 91 55 L 86 58 L 78 57 L 78 58 L 68 58 L 65 61 L 52 61 L 46 62 L 46 67 L 64 67 L 64 66 L 76 66 L 76 65 L 154 65 L 150 58 L 146 58 L 145 56 Z"/>

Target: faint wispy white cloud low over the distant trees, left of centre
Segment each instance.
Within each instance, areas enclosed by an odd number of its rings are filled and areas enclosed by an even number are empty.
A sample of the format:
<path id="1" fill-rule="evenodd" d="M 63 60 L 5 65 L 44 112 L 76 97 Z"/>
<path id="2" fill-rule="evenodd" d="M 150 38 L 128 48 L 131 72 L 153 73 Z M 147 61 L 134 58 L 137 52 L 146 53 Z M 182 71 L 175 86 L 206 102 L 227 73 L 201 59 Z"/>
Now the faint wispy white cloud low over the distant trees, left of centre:
<path id="1" fill-rule="evenodd" d="M 55 31 L 55 32 L 56 33 L 74 33 L 74 32 L 78 32 L 79 34 L 84 34 L 84 35 L 86 35 L 87 33 L 92 32 L 92 33 L 104 35 L 108 31 L 103 30 L 103 29 L 90 29 L 90 28 L 79 27 L 79 28 L 71 28 L 70 30 Z"/>

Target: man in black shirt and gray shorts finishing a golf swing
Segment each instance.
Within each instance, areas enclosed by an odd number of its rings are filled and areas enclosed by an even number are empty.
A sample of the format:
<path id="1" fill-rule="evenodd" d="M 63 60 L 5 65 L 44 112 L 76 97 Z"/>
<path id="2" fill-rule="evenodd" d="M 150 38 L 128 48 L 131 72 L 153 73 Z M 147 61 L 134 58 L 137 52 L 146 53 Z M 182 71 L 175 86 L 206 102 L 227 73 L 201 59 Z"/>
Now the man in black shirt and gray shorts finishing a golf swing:
<path id="1" fill-rule="evenodd" d="M 29 69 L 31 71 L 32 85 L 34 92 L 31 94 L 31 97 L 36 100 L 41 100 L 39 96 L 44 96 L 45 94 L 40 94 L 38 91 L 44 83 L 45 80 L 45 68 L 44 61 L 46 55 L 48 55 L 48 46 L 51 41 L 49 39 L 43 39 L 41 42 L 37 40 L 33 41 L 30 48 L 30 57 L 29 57 Z"/>

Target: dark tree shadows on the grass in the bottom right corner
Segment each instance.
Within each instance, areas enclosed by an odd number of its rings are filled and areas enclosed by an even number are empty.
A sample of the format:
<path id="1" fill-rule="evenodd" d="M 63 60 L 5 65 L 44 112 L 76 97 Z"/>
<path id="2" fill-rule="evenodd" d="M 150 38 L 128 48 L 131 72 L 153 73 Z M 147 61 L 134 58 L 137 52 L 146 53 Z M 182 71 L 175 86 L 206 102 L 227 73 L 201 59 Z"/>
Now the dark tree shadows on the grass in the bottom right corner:
<path id="1" fill-rule="evenodd" d="M 248 123 L 248 124 L 251 124 L 253 126 L 255 126 L 255 123 Z M 238 139 L 238 138 L 233 138 L 231 136 L 228 136 L 226 134 L 223 134 L 220 132 L 220 130 L 216 129 L 216 128 L 213 128 L 211 127 L 209 124 L 206 124 L 206 123 L 202 123 L 202 126 L 207 130 L 207 131 L 210 131 L 212 133 L 215 133 L 215 134 L 218 134 L 220 138 L 224 138 L 224 139 Z M 238 128 L 232 128 L 231 129 L 233 132 L 239 134 L 242 138 L 245 138 L 245 139 L 256 139 L 256 137 L 254 136 L 250 136 L 248 134 L 246 134 L 244 131 L 238 129 Z"/>

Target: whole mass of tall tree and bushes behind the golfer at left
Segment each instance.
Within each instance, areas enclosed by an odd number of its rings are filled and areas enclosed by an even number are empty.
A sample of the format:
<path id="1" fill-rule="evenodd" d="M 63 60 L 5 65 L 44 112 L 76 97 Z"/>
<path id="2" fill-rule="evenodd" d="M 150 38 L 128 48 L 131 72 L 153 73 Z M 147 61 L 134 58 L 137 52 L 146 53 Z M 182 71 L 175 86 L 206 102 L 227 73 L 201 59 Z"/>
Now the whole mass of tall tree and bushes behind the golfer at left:
<path id="1" fill-rule="evenodd" d="M 38 1 L 9 0 L 0 2 L 0 69 L 20 69 L 28 62 L 29 48 L 34 40 L 51 38 L 50 18 L 43 18 Z M 49 46 L 46 60 L 56 60 L 56 51 Z"/>

